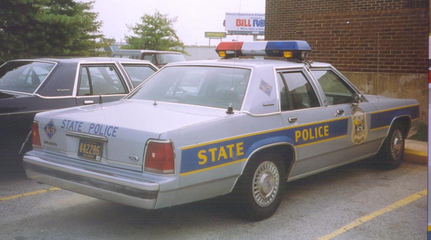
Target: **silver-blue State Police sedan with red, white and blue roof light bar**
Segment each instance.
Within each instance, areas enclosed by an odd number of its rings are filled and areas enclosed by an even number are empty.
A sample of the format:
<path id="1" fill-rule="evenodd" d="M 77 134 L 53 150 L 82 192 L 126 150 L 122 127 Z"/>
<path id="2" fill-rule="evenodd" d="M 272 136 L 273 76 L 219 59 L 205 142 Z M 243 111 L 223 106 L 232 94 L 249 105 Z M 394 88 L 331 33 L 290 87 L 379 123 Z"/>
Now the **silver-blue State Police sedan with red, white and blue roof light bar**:
<path id="1" fill-rule="evenodd" d="M 223 59 L 168 64 L 120 101 L 39 113 L 27 176 L 144 209 L 233 192 L 259 220 L 288 181 L 374 155 L 396 168 L 417 101 L 362 95 L 310 50 L 221 42 Z"/>

